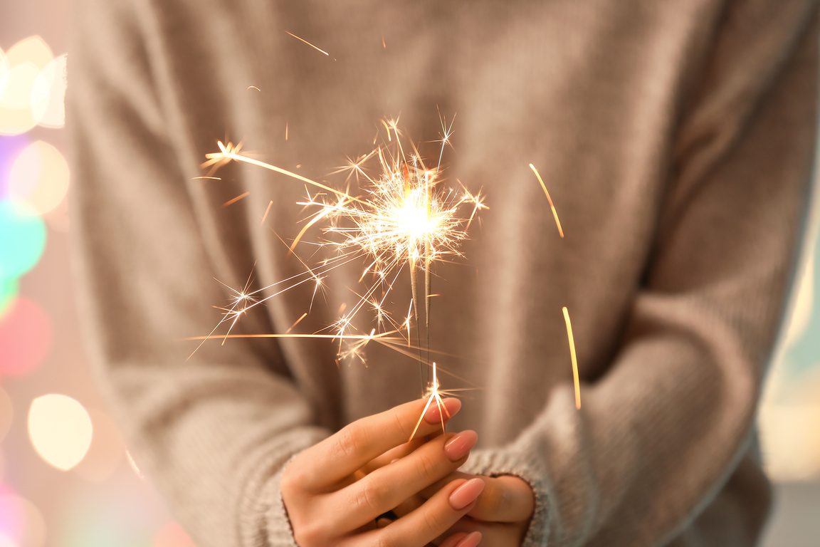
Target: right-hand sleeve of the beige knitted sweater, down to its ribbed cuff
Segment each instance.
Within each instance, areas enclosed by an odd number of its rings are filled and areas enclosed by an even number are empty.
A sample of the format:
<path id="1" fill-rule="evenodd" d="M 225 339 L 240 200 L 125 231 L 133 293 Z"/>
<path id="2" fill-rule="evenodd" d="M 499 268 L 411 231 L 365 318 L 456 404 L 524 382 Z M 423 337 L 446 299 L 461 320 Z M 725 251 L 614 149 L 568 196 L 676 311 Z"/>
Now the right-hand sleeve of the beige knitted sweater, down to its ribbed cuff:
<path id="1" fill-rule="evenodd" d="M 560 385 L 517 440 L 467 463 L 530 482 L 527 547 L 754 542 L 761 523 L 748 515 L 698 519 L 761 496 L 748 454 L 809 189 L 816 2 L 774 4 L 731 2 L 723 16 L 683 107 L 654 252 L 608 372 L 581 385 L 580 411 Z M 742 487 L 733 473 L 755 478 Z"/>

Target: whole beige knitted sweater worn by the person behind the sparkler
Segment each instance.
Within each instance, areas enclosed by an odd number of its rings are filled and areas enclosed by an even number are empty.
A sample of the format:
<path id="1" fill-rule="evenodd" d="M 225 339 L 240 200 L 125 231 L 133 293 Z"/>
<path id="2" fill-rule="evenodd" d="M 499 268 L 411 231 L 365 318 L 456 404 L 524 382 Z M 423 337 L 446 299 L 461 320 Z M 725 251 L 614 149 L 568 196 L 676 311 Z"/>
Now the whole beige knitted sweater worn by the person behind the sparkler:
<path id="1" fill-rule="evenodd" d="M 452 426 L 479 433 L 467 470 L 531 483 L 528 546 L 754 545 L 769 505 L 754 413 L 812 166 L 817 12 L 813 0 L 75 2 L 72 222 L 90 358 L 197 545 L 294 545 L 283 464 L 419 395 L 417 364 L 372 344 L 367 367 L 337 368 L 316 340 L 209 343 L 186 360 L 195 344 L 182 339 L 220 319 L 216 280 L 253 270 L 261 287 L 302 270 L 276 234 L 301 227 L 303 185 L 236 164 L 193 180 L 199 163 L 217 139 L 244 140 L 322 179 L 369 151 L 385 116 L 429 149 L 438 111 L 457 114 L 449 178 L 490 206 L 465 260 L 435 269 L 430 344 L 458 356 L 439 359 L 457 376 L 444 387 L 478 388 Z M 353 301 L 361 266 L 328 280 L 300 331 Z M 271 299 L 235 331 L 285 330 L 311 294 Z"/>

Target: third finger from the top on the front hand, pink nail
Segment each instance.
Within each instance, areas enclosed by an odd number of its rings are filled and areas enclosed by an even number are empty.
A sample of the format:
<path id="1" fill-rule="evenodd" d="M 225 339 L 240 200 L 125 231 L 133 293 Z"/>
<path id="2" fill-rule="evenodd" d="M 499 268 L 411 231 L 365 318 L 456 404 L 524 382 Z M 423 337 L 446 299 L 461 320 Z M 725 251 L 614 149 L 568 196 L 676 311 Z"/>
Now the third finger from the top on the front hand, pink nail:
<path id="1" fill-rule="evenodd" d="M 391 522 L 384 528 L 352 536 L 342 545 L 344 547 L 427 545 L 448 531 L 476 503 L 481 490 L 476 488 L 475 483 L 470 483 L 471 481 L 453 481 L 412 513 Z"/>

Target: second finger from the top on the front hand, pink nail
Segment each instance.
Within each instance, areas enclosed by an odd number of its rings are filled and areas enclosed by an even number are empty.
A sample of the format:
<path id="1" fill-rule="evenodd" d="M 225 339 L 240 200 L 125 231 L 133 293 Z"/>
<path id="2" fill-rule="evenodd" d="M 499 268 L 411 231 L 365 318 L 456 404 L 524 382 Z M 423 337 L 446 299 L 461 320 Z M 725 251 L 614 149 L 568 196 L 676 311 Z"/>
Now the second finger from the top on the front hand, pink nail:
<path id="1" fill-rule="evenodd" d="M 431 440 L 412 454 L 348 485 L 339 492 L 343 498 L 330 503 L 348 508 L 344 515 L 348 526 L 363 526 L 455 471 L 464 463 L 477 440 L 475 431 Z"/>

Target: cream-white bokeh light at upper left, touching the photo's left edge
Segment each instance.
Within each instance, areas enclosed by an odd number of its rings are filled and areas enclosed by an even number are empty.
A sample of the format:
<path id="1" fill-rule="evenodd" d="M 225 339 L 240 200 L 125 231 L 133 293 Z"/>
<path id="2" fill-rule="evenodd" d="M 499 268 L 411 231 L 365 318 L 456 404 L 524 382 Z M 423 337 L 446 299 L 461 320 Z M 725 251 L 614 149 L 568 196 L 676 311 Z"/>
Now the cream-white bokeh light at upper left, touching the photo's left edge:
<path id="1" fill-rule="evenodd" d="M 21 134 L 37 125 L 32 97 L 39 76 L 52 59 L 51 49 L 39 36 L 24 39 L 6 52 L 0 93 L 0 134 Z M 48 111 L 48 107 L 45 110 Z"/>

